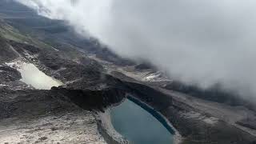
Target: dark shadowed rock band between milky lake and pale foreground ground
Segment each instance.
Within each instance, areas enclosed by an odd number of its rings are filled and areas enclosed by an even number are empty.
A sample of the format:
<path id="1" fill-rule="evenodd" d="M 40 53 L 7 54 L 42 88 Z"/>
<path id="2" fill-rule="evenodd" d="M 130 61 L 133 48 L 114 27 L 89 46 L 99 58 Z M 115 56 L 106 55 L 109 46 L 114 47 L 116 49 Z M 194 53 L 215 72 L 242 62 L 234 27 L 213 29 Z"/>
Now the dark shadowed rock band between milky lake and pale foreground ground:
<path id="1" fill-rule="evenodd" d="M 52 90 L 3 90 L 0 89 L 0 119 L 33 117 L 62 111 L 104 110 L 106 106 L 122 101 L 122 90 L 67 90 L 54 87 Z M 22 116 L 23 115 L 23 116 Z"/>

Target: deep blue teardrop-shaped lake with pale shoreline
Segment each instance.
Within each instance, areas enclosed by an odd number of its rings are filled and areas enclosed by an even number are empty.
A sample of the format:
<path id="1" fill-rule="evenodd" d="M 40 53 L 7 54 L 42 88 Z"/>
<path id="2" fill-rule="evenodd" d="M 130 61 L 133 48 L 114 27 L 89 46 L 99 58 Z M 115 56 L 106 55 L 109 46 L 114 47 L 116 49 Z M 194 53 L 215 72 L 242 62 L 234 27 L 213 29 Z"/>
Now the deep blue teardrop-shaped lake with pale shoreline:
<path id="1" fill-rule="evenodd" d="M 126 99 L 111 110 L 114 129 L 132 144 L 173 144 L 173 134 L 148 111 Z"/>

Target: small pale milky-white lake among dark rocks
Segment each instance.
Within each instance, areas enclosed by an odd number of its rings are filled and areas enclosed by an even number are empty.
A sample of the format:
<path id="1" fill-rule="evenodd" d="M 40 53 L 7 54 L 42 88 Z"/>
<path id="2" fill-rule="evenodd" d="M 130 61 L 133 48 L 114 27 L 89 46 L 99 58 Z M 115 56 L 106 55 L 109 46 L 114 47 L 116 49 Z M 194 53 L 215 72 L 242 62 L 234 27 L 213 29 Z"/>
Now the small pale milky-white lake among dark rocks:
<path id="1" fill-rule="evenodd" d="M 52 86 L 61 86 L 62 82 L 44 74 L 38 67 L 31 63 L 21 63 L 18 71 L 22 74 L 22 82 L 38 90 L 50 90 Z"/>

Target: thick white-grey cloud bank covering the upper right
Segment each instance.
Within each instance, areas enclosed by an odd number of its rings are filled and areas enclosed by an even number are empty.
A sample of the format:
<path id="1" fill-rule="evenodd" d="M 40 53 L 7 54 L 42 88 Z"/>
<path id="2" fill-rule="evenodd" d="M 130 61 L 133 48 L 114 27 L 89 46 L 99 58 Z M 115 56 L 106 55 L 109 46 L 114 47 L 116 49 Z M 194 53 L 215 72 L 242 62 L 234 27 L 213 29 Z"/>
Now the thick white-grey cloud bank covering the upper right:
<path id="1" fill-rule="evenodd" d="M 254 0 L 17 0 L 172 78 L 256 94 Z"/>

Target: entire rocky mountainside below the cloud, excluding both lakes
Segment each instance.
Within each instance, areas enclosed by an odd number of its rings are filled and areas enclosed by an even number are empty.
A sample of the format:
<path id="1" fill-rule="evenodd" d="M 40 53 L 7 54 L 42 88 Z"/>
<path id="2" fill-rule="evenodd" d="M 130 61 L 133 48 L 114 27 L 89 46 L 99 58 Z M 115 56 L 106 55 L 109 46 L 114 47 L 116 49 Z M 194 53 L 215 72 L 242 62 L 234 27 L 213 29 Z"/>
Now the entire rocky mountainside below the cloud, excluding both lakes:
<path id="1" fill-rule="evenodd" d="M 0 142 L 125 143 L 98 115 L 126 94 L 166 116 L 182 143 L 256 142 L 254 104 L 174 83 L 12 1 L 0 2 L 0 18 Z M 35 90 L 6 64 L 15 61 L 33 63 L 64 85 Z"/>

